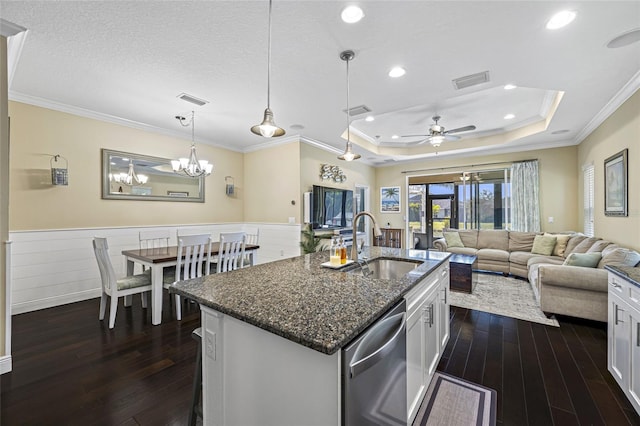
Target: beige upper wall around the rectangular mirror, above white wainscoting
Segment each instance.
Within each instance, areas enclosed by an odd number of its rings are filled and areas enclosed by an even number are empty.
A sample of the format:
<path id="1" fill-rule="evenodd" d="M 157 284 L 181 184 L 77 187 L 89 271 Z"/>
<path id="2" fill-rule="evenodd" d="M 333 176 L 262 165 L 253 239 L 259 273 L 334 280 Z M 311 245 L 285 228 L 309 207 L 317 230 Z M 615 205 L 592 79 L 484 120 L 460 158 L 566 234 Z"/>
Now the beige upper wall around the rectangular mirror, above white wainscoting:
<path id="1" fill-rule="evenodd" d="M 241 222 L 242 195 L 225 195 L 225 176 L 243 186 L 243 154 L 198 144 L 198 156 L 214 164 L 204 203 L 122 201 L 101 198 L 101 148 L 163 158 L 188 154 L 190 142 L 19 102 L 11 117 L 9 229 L 37 230 Z M 50 160 L 69 163 L 69 185 L 52 186 Z"/>

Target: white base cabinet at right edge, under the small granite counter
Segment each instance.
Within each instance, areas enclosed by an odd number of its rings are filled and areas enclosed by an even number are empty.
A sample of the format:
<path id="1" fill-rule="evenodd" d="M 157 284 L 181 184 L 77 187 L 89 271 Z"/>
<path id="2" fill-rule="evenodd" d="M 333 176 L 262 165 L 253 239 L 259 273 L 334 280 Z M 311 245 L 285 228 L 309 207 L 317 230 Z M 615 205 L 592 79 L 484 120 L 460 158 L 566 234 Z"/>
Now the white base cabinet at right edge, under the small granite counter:
<path id="1" fill-rule="evenodd" d="M 640 413 L 640 288 L 609 272 L 608 368 Z"/>

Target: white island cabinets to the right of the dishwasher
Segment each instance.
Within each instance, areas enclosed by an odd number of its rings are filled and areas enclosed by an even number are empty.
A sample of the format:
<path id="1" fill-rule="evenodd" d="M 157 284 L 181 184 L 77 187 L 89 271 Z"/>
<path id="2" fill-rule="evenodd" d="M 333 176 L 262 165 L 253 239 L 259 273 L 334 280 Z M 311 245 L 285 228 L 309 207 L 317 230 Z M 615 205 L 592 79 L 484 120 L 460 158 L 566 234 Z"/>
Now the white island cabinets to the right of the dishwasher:
<path id="1" fill-rule="evenodd" d="M 418 283 L 405 299 L 407 423 L 411 424 L 449 340 L 449 263 Z"/>

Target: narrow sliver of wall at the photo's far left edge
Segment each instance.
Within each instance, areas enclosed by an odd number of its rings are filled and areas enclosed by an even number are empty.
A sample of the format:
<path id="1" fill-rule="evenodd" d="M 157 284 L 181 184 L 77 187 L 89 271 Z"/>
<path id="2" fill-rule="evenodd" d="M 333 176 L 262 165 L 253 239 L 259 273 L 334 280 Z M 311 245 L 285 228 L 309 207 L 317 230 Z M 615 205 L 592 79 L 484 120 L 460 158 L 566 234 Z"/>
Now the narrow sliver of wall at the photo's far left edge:
<path id="1" fill-rule="evenodd" d="M 9 126 L 7 88 L 7 39 L 0 36 L 0 356 L 5 348 L 7 264 L 4 242 L 9 240 Z"/>

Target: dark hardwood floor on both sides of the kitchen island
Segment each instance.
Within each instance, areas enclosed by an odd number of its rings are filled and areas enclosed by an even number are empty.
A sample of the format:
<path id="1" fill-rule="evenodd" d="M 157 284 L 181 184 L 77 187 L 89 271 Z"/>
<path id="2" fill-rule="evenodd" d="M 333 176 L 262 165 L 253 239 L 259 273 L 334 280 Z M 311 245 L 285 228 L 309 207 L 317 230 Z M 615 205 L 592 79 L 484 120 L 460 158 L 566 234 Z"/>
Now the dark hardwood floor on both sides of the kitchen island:
<path id="1" fill-rule="evenodd" d="M 113 330 L 98 300 L 13 317 L 13 371 L 0 376 L 3 426 L 184 425 L 198 307 L 163 323 L 135 298 Z M 560 318 L 560 328 L 463 308 L 439 370 L 498 392 L 500 425 L 640 425 L 607 372 L 604 324 Z"/>

